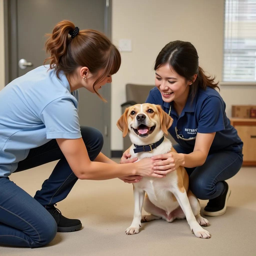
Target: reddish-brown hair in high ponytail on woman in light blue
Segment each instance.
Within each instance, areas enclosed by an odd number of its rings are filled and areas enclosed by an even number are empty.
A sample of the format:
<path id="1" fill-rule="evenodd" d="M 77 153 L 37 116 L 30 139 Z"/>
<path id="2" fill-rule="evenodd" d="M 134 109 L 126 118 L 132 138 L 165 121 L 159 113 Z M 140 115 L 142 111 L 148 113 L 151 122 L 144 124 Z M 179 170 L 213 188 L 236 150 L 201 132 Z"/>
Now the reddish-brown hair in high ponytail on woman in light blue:
<path id="1" fill-rule="evenodd" d="M 68 77 L 79 66 L 88 67 L 92 74 L 96 74 L 103 68 L 103 73 L 94 82 L 93 90 L 102 99 L 102 96 L 94 89 L 106 76 L 115 74 L 121 65 L 121 55 L 110 39 L 103 33 L 93 30 L 80 30 L 77 36 L 71 38 L 69 31 L 75 26 L 68 20 L 59 22 L 46 41 L 46 52 L 50 52 L 44 64 L 49 61 L 50 69 L 56 69 L 57 77 L 63 71 Z M 105 100 L 104 100 L 105 101 Z"/>

